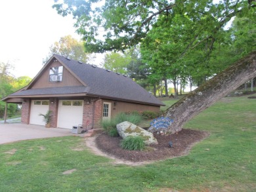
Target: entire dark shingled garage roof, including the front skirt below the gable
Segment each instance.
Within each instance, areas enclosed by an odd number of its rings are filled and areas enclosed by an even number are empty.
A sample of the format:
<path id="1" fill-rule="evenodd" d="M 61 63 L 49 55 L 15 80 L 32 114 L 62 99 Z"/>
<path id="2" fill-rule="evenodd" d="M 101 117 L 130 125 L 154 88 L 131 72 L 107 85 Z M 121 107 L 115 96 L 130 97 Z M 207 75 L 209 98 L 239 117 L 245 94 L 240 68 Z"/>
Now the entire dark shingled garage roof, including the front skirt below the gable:
<path id="1" fill-rule="evenodd" d="M 74 75 L 85 86 L 64 86 L 60 88 L 33 88 L 30 89 L 33 81 L 39 79 L 43 69 L 51 63 L 50 61 L 58 60 L 70 73 Z M 100 98 L 110 98 L 154 106 L 164 106 L 160 100 L 135 83 L 125 75 L 115 73 L 100 67 L 84 64 L 71 60 L 64 56 L 54 54 L 49 62 L 39 71 L 37 76 L 27 86 L 26 90 L 14 92 L 10 96 L 43 96 L 43 95 L 60 95 L 60 94 L 82 94 L 87 96 L 97 96 Z"/>

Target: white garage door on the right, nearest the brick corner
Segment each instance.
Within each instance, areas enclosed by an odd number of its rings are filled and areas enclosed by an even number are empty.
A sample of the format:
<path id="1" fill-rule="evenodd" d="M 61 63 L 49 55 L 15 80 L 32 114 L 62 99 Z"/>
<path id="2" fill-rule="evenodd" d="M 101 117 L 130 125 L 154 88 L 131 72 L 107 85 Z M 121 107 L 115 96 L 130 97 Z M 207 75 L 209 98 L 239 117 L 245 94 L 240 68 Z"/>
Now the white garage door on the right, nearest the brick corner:
<path id="1" fill-rule="evenodd" d="M 83 123 L 83 100 L 59 100 L 58 127 L 70 128 Z"/>

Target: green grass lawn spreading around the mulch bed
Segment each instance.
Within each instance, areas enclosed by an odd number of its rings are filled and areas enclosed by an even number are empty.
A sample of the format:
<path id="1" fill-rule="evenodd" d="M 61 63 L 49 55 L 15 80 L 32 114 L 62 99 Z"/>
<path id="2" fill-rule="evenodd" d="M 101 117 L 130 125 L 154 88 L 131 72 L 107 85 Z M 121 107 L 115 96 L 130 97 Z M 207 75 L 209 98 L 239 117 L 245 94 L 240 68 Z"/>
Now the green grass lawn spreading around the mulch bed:
<path id="1" fill-rule="evenodd" d="M 255 99 L 224 98 L 185 128 L 211 135 L 144 166 L 113 164 L 75 136 L 0 145 L 0 191 L 256 191 Z"/>

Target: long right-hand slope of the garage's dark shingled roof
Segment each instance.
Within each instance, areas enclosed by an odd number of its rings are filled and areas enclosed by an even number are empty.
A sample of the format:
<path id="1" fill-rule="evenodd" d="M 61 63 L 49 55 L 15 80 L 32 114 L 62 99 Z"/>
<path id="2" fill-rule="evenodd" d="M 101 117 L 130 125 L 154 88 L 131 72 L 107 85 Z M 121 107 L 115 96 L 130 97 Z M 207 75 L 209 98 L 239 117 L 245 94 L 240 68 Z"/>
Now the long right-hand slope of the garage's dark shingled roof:
<path id="1" fill-rule="evenodd" d="M 87 92 L 88 96 L 164 106 L 160 100 L 125 75 L 70 60 L 57 54 L 54 54 L 54 57 L 65 64 L 81 81 L 90 87 Z"/>

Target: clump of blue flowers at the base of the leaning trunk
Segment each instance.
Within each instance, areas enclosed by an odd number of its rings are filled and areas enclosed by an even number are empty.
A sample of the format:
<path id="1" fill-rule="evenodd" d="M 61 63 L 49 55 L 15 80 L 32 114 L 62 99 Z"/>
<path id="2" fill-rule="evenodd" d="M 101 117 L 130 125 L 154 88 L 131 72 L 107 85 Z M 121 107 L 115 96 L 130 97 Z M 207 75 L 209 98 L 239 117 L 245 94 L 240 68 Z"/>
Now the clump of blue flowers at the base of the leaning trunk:
<path id="1" fill-rule="evenodd" d="M 173 123 L 173 119 L 170 119 L 169 117 L 158 117 L 150 122 L 150 128 L 148 128 L 148 131 L 165 134 L 169 126 L 171 126 L 171 123 Z"/>

